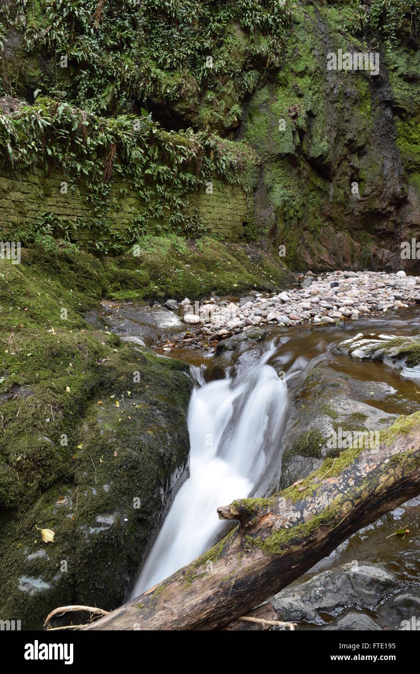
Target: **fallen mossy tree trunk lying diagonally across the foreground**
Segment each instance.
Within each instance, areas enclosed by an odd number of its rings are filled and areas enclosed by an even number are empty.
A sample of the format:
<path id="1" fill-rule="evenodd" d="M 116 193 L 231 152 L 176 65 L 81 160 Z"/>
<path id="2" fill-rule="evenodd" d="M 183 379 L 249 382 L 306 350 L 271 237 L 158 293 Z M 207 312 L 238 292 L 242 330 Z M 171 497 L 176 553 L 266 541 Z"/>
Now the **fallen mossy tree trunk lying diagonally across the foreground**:
<path id="1" fill-rule="evenodd" d="M 420 412 L 268 499 L 218 508 L 222 541 L 86 630 L 213 630 L 247 615 L 342 541 L 420 493 Z"/>

